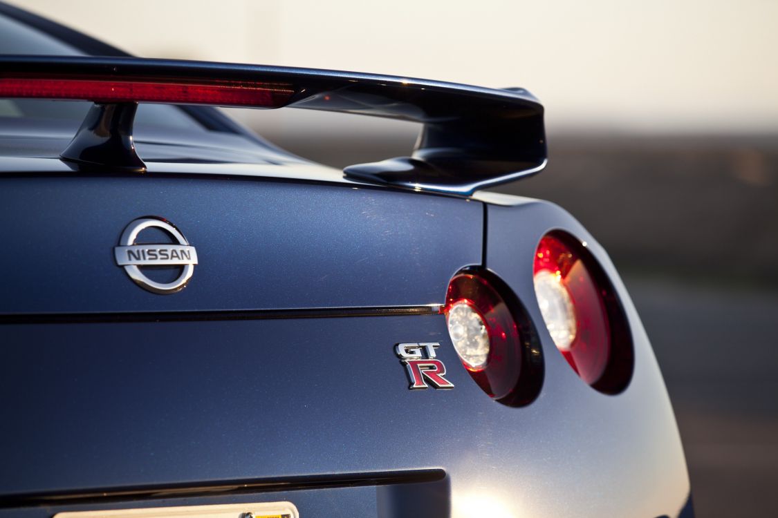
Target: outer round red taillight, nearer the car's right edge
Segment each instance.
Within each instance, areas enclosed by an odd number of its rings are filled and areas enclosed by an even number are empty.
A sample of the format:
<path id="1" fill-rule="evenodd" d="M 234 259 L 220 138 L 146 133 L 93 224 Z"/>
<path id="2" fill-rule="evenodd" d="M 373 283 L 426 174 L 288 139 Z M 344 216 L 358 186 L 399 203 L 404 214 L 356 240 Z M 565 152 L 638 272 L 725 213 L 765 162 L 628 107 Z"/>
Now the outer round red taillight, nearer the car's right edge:
<path id="1" fill-rule="evenodd" d="M 533 270 L 543 321 L 567 363 L 599 391 L 622 391 L 632 377 L 632 339 L 601 266 L 583 243 L 554 231 L 541 239 Z"/>

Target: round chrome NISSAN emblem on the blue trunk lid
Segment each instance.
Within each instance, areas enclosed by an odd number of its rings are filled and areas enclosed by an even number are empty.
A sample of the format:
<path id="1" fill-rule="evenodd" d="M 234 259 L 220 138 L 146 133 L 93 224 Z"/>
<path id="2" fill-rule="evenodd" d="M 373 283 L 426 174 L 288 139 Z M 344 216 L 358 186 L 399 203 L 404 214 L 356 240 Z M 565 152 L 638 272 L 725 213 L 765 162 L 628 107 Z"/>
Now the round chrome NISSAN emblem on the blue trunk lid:
<path id="1" fill-rule="evenodd" d="M 138 235 L 146 228 L 159 228 L 169 235 L 173 243 L 142 243 L 136 245 Z M 124 228 L 119 245 L 114 247 L 114 258 L 118 266 L 144 290 L 156 294 L 172 294 L 183 290 L 195 272 L 197 251 L 187 242 L 170 221 L 161 217 L 140 217 Z M 142 266 L 182 266 L 181 273 L 170 283 L 158 283 L 142 272 Z"/>

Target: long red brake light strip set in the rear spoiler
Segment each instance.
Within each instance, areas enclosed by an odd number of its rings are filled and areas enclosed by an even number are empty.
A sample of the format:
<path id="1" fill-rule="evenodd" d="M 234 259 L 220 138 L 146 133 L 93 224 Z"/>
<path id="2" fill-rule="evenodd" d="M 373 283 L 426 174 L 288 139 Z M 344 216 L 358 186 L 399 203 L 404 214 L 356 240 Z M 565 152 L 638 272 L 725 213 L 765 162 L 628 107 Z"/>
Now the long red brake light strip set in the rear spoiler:
<path id="1" fill-rule="evenodd" d="M 103 79 L 16 77 L 0 78 L 0 98 L 87 100 L 96 103 L 174 103 L 279 108 L 292 97 L 291 85 L 220 81 L 164 82 Z"/>

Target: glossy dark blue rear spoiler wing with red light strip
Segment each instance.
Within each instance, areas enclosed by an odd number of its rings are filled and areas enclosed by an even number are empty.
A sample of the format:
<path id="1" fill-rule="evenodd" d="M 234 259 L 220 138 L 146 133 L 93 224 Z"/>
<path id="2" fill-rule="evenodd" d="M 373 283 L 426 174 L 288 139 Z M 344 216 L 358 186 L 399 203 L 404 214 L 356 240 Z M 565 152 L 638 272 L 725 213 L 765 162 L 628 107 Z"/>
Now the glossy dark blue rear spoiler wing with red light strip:
<path id="1" fill-rule="evenodd" d="M 132 144 L 137 103 L 293 107 L 423 124 L 409 157 L 349 165 L 373 183 L 469 195 L 540 172 L 543 106 L 523 89 L 388 75 L 135 57 L 0 57 L 0 98 L 93 101 L 61 158 L 145 171 Z"/>

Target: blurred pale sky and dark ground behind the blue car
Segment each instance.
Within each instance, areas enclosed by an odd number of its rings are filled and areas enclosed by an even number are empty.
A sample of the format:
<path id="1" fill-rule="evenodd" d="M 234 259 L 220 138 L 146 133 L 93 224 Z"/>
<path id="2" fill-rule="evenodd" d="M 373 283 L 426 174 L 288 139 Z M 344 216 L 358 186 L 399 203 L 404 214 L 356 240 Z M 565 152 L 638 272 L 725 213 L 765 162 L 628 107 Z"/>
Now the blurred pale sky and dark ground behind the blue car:
<path id="1" fill-rule="evenodd" d="M 530 89 L 548 169 L 497 190 L 559 203 L 611 253 L 661 363 L 699 516 L 778 516 L 778 2 L 13 3 L 145 57 Z M 419 130 L 231 113 L 336 166 L 407 155 Z"/>

